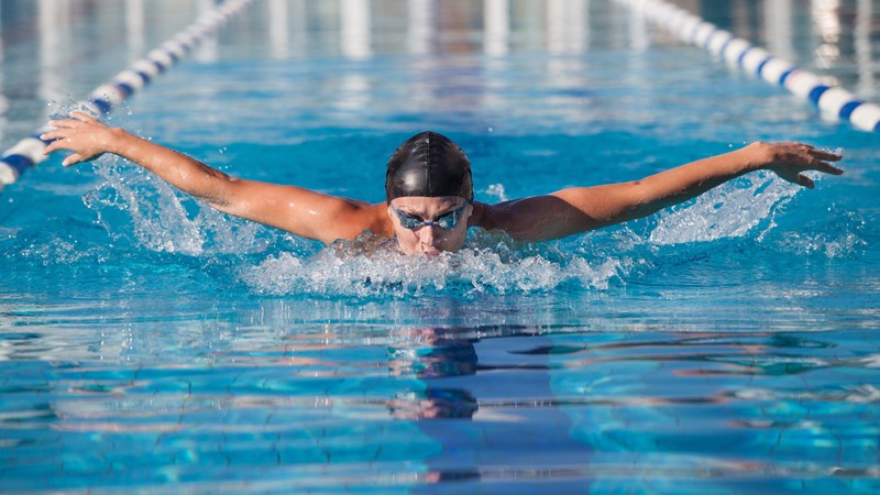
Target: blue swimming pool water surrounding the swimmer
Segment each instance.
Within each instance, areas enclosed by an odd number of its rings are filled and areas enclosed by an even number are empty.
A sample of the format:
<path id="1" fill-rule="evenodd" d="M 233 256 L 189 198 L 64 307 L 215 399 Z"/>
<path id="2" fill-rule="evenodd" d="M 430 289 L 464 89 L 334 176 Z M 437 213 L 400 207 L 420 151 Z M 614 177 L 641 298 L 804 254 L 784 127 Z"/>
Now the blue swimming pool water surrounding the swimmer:
<path id="1" fill-rule="evenodd" d="M 122 2 L 44 2 L 64 23 L 4 3 L 4 147 L 202 6 L 173 3 L 127 3 L 156 26 L 140 37 Z M 763 2 L 704 13 L 876 97 L 845 34 L 865 11 L 834 11 L 835 42 L 792 3 L 788 37 L 743 23 L 763 25 Z M 426 263 L 229 219 L 117 160 L 53 158 L 0 196 L 3 490 L 877 490 L 876 134 L 613 2 L 566 6 L 512 1 L 499 23 L 480 2 L 256 2 L 112 123 L 370 201 L 425 129 L 468 152 L 484 201 L 755 140 L 842 147 L 846 174 L 813 191 L 747 176 L 548 244 L 472 232 Z M 41 22 L 56 37 L 22 28 Z"/>

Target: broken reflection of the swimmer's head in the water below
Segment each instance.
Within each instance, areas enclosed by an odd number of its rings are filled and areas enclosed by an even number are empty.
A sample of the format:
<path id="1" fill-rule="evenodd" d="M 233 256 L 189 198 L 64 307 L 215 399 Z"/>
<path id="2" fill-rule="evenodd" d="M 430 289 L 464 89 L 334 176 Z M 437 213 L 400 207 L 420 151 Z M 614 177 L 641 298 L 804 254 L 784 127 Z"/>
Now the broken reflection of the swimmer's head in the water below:
<path id="1" fill-rule="evenodd" d="M 400 344 L 388 348 L 394 376 L 415 376 L 426 382 L 419 392 L 397 394 L 388 402 L 392 416 L 407 419 L 473 419 L 480 408 L 470 391 L 438 387 L 435 378 L 474 375 L 479 362 L 474 342 L 460 331 L 424 328 L 395 332 Z"/>

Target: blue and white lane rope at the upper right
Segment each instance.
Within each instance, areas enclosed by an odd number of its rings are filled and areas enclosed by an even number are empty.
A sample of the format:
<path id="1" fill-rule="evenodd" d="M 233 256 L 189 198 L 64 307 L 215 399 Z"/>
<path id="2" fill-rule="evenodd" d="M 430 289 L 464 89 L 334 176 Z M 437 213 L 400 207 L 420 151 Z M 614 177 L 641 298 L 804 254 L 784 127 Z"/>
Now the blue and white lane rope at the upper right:
<path id="1" fill-rule="evenodd" d="M 734 36 L 711 22 L 663 0 L 617 0 L 647 20 L 674 33 L 683 42 L 710 51 L 728 65 L 768 82 L 780 85 L 801 99 L 811 101 L 823 114 L 850 122 L 859 130 L 880 132 L 880 107 L 820 76 L 798 68 L 746 40 Z"/>

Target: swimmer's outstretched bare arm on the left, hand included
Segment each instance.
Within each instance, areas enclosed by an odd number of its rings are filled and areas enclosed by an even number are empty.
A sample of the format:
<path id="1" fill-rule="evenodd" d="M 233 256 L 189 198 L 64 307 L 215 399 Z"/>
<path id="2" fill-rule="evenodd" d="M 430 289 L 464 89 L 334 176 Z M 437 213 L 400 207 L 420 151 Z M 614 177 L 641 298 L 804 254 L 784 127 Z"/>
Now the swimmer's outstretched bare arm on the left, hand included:
<path id="1" fill-rule="evenodd" d="M 322 195 L 294 186 L 279 186 L 230 177 L 187 155 L 109 128 L 81 112 L 51 122 L 55 129 L 41 138 L 53 141 L 45 150 L 69 150 L 64 165 L 112 153 L 158 175 L 172 186 L 237 217 L 254 220 L 309 239 L 330 243 L 352 239 L 373 226 L 375 206 Z"/>

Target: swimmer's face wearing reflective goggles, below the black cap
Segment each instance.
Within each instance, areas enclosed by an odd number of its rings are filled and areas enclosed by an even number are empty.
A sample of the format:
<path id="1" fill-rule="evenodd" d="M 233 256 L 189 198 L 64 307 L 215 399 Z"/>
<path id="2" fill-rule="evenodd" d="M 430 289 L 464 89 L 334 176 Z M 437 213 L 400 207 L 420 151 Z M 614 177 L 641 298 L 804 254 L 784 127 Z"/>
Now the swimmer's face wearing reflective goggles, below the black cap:
<path id="1" fill-rule="evenodd" d="M 397 212 L 394 211 L 395 209 Z M 400 246 L 404 254 L 437 255 L 442 251 L 460 250 L 468 237 L 468 219 L 472 211 L 473 207 L 468 200 L 458 196 L 438 198 L 406 196 L 395 198 L 388 205 L 388 217 L 392 219 L 394 233 L 397 235 L 397 245 Z M 440 224 L 448 224 L 457 212 L 458 223 L 455 227 L 449 229 L 440 227 Z M 400 217 L 404 219 L 402 220 Z M 421 224 L 426 221 L 435 222 L 435 224 Z M 406 222 L 418 224 L 418 227 L 409 229 L 403 224 Z"/>

